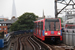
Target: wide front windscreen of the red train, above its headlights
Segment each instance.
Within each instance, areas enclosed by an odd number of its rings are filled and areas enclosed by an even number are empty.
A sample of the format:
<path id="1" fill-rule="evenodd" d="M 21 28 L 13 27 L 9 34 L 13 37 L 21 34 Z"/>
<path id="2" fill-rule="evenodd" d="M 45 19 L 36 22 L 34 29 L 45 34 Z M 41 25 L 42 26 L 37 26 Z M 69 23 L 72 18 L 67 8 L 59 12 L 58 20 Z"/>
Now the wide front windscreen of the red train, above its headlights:
<path id="1" fill-rule="evenodd" d="M 60 22 L 59 19 L 46 19 L 45 20 L 45 31 L 59 31 Z"/>

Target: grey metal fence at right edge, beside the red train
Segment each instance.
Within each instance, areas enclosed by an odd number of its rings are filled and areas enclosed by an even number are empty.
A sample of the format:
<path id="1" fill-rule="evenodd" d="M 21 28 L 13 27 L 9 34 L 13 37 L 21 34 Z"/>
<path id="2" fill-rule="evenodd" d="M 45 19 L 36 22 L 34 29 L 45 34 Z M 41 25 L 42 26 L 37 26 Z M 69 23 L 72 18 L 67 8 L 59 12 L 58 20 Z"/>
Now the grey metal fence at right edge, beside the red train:
<path id="1" fill-rule="evenodd" d="M 70 46 L 75 46 L 75 32 L 63 32 L 63 43 L 70 45 Z"/>

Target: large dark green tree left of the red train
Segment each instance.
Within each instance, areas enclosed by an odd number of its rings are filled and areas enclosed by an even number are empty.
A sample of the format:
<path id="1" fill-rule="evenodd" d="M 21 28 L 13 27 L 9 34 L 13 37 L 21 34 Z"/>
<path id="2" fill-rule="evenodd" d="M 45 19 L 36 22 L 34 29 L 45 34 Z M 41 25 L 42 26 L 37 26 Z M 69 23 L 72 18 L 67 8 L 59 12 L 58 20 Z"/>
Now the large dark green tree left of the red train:
<path id="1" fill-rule="evenodd" d="M 33 21 L 36 21 L 36 18 L 38 18 L 38 16 L 36 16 L 34 13 L 24 13 L 18 18 L 18 20 L 15 23 L 11 25 L 10 30 L 18 31 L 33 29 Z"/>

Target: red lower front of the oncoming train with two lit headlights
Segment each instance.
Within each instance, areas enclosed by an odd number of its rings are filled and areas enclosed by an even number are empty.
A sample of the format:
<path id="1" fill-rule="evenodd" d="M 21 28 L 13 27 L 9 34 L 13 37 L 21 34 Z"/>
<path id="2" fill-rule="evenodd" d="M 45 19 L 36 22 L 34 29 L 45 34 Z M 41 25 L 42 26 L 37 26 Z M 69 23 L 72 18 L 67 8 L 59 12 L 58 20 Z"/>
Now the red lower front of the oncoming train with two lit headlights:
<path id="1" fill-rule="evenodd" d="M 44 36 L 45 38 L 60 38 L 60 40 L 62 41 L 61 31 L 45 31 Z"/>

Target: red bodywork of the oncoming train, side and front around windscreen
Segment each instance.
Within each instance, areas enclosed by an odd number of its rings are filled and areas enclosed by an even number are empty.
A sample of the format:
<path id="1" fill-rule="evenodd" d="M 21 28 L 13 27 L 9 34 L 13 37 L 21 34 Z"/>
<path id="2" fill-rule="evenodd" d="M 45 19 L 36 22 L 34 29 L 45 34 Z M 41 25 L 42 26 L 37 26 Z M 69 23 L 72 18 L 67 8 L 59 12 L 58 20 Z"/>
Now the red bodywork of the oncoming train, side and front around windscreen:
<path id="1" fill-rule="evenodd" d="M 43 25 L 41 24 L 41 27 L 43 26 L 43 28 L 39 27 L 39 22 L 43 22 Z M 55 37 L 55 38 L 60 38 L 60 40 L 62 41 L 61 20 L 60 19 L 59 19 L 59 23 L 60 23 L 59 24 L 60 25 L 60 30 L 59 31 L 46 31 L 45 30 L 45 19 L 39 20 L 39 21 L 35 21 L 34 23 L 37 23 L 37 28 L 34 29 L 37 32 L 34 31 L 34 35 L 36 37 L 38 37 L 39 39 L 44 41 L 45 38 Z"/>

